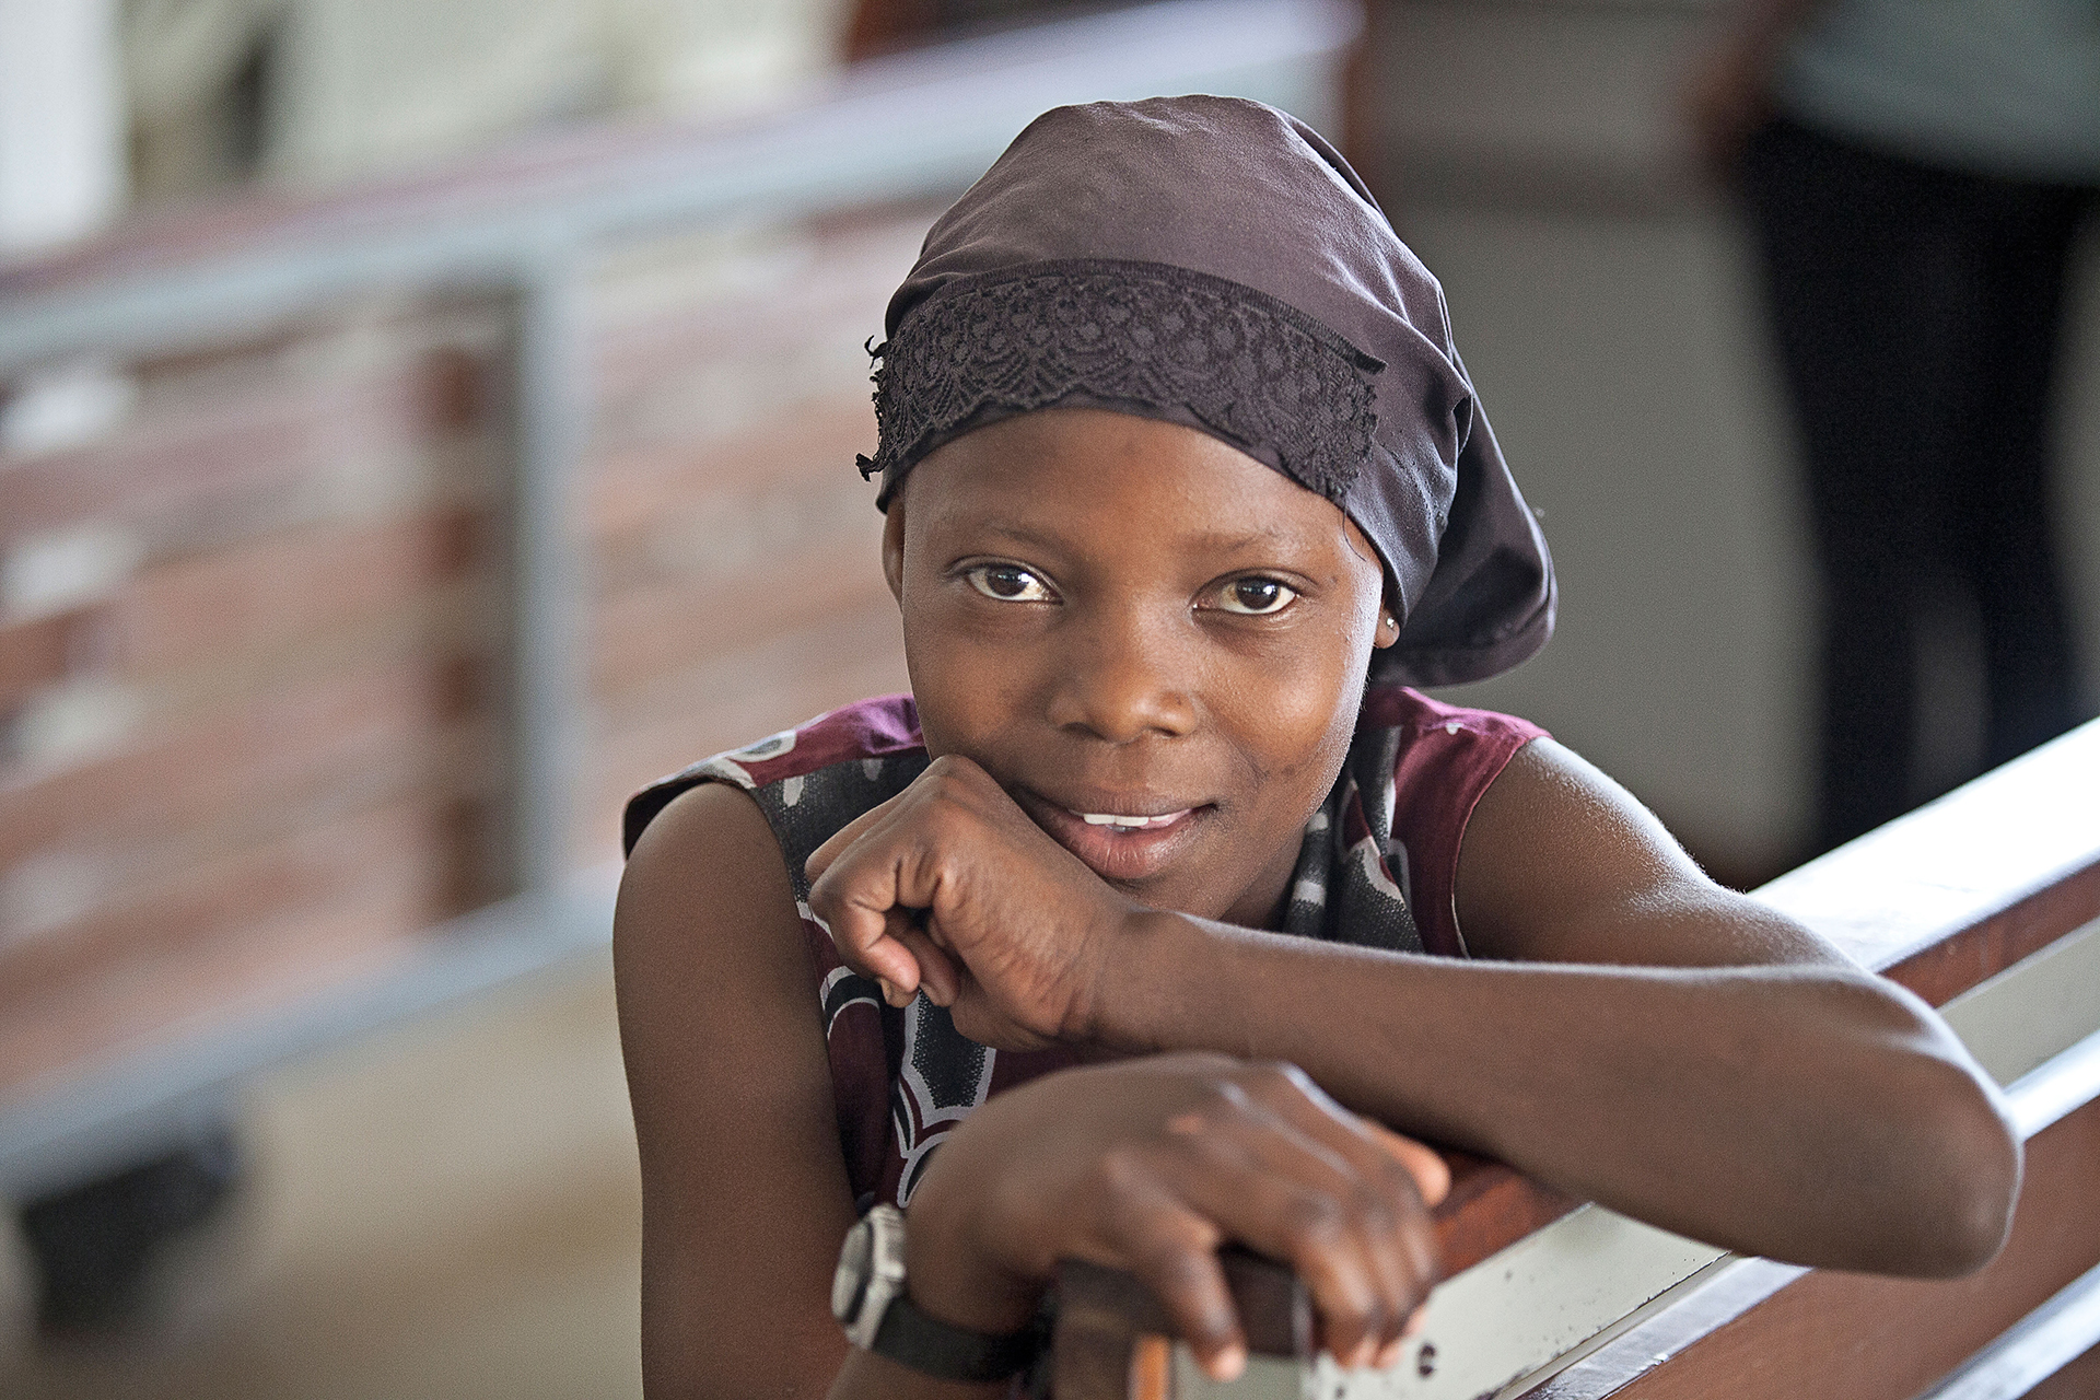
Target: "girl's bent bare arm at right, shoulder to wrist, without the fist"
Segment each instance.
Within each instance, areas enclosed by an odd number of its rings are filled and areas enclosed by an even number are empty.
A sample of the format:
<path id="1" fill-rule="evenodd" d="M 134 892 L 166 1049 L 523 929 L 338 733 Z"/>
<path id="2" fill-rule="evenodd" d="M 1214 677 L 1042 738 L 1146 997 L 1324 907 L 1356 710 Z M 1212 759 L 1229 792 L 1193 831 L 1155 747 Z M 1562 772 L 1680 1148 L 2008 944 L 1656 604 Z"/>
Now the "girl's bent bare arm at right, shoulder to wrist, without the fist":
<path id="1" fill-rule="evenodd" d="M 1907 991 L 1709 882 L 1552 741 L 1460 850 L 1474 961 L 1153 915 L 1098 1035 L 1302 1064 L 1342 1102 L 1667 1230 L 1804 1264 L 1961 1274 L 2003 1240 L 2018 1140 Z"/>

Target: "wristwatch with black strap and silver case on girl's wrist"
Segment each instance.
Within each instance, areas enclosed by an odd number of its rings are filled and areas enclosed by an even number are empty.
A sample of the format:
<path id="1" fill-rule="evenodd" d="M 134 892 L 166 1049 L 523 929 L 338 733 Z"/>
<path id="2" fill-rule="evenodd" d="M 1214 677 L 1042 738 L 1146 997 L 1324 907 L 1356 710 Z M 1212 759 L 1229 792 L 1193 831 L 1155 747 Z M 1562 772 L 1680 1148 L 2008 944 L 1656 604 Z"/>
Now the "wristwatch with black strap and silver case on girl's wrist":
<path id="1" fill-rule="evenodd" d="M 1004 1381 L 1035 1360 L 1040 1333 L 993 1337 L 920 1312 L 905 1293 L 905 1213 L 895 1205 L 867 1211 L 838 1251 L 832 1316 L 846 1341 L 943 1381 Z"/>

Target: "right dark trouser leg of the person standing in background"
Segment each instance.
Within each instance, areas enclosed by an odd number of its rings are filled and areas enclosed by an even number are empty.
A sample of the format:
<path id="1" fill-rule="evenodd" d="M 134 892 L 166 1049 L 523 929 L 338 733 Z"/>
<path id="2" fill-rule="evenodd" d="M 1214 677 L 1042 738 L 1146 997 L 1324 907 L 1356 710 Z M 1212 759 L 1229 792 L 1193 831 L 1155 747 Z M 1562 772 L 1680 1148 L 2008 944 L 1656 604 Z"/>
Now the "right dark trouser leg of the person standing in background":
<path id="1" fill-rule="evenodd" d="M 1953 556 L 1982 619 L 1989 766 L 2085 718 L 2050 531 L 2050 407 L 2083 204 L 2073 189 L 1995 185 L 1972 218 L 1980 296 L 1957 428 L 1970 508 L 1953 516 Z"/>

